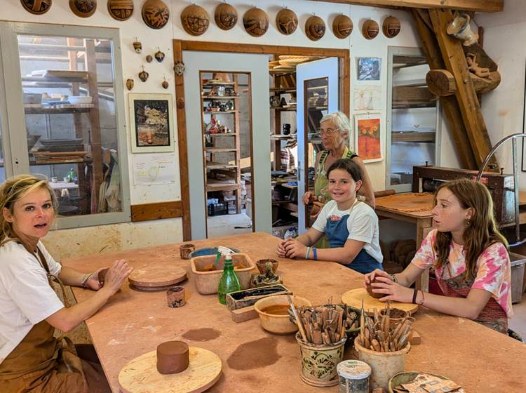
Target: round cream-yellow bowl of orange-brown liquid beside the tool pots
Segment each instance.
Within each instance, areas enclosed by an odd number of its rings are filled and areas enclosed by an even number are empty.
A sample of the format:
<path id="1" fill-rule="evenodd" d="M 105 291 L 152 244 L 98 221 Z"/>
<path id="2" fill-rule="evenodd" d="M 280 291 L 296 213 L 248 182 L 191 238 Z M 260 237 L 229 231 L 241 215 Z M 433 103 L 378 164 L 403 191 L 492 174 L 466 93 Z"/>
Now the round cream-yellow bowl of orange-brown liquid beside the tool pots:
<path id="1" fill-rule="evenodd" d="M 300 298 L 299 296 L 291 296 L 290 298 L 292 298 L 295 307 L 311 306 L 311 302 L 305 298 Z M 259 321 L 261 321 L 262 328 L 276 334 L 290 334 L 297 332 L 297 325 L 289 320 L 288 313 L 284 315 L 269 314 L 269 310 L 272 307 L 275 309 L 278 307 L 281 307 L 281 309 L 285 309 L 285 307 L 288 308 L 289 304 L 287 296 L 275 295 L 257 300 L 254 308 L 257 311 L 257 314 L 259 314 Z"/>

